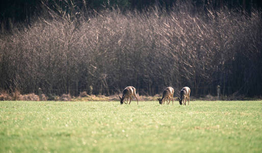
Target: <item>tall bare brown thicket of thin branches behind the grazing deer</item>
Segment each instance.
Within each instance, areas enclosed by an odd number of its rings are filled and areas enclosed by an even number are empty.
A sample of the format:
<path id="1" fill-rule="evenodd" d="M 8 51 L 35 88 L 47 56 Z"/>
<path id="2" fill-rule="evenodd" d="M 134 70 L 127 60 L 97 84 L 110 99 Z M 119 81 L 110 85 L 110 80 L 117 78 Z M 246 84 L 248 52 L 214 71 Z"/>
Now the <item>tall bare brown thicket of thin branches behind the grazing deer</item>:
<path id="1" fill-rule="evenodd" d="M 219 85 L 223 95 L 262 93 L 258 8 L 236 11 L 225 1 L 202 1 L 223 4 L 220 9 L 196 5 L 200 1 L 170 1 L 165 8 L 159 1 L 142 11 L 135 1 L 110 1 L 134 9 L 95 11 L 79 4 L 100 6 L 95 1 L 50 2 L 32 3 L 42 5 L 41 14 L 32 11 L 25 23 L 2 28 L 1 90 L 110 95 L 134 86 L 154 95 L 167 86 L 177 93 L 189 86 L 201 96 L 216 95 Z"/>

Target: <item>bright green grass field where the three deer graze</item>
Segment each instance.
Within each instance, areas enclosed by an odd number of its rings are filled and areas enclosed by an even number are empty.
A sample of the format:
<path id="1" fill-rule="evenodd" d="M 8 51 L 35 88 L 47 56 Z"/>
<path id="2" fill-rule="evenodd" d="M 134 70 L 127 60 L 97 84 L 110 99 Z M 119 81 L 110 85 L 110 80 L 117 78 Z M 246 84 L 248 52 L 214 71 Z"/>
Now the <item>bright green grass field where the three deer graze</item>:
<path id="1" fill-rule="evenodd" d="M 262 101 L 1 101 L 0 112 L 0 152 L 262 152 Z"/>

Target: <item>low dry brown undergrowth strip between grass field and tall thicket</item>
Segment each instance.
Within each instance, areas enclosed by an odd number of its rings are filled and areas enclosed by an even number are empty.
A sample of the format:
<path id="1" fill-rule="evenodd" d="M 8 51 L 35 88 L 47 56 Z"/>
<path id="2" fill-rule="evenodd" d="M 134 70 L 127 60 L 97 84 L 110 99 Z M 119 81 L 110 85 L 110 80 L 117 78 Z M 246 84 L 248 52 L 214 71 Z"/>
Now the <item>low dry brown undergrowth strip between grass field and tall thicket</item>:
<path id="1" fill-rule="evenodd" d="M 35 94 L 35 93 L 29 93 L 29 94 L 21 94 L 19 91 L 15 91 L 13 93 L 8 93 L 6 91 L 0 92 L 0 101 L 4 100 L 24 100 L 24 101 L 119 101 L 119 95 L 114 94 L 110 96 L 106 95 L 94 95 L 94 94 L 87 94 L 86 91 L 81 92 L 78 96 L 72 96 L 70 94 L 62 94 L 59 95 L 53 95 L 49 94 L 48 96 L 45 94 Z M 121 96 L 121 95 L 120 95 Z M 139 98 L 139 101 L 156 101 L 157 98 L 162 97 L 160 94 L 156 94 L 154 96 L 149 95 L 139 95 L 137 93 L 137 96 Z M 212 96 L 210 94 L 196 98 L 194 96 L 190 97 L 190 100 L 209 100 L 209 101 L 215 101 L 215 100 L 259 100 L 262 99 L 262 97 L 253 97 L 253 98 L 247 98 L 243 95 L 235 96 L 235 95 L 229 95 L 229 96 L 221 96 L 218 98 L 217 96 Z M 136 99 L 133 99 L 136 100 Z M 177 101 L 177 96 L 174 96 L 174 101 Z"/>

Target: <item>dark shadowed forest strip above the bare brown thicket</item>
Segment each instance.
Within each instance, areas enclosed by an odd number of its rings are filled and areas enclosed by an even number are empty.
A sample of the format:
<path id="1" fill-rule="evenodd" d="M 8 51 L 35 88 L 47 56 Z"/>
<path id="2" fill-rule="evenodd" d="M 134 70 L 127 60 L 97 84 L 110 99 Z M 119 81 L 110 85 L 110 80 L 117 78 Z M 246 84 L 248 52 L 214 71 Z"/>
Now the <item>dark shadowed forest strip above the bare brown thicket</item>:
<path id="1" fill-rule="evenodd" d="M 2 26 L 10 29 L 13 22 L 31 23 L 32 18 L 43 13 L 43 4 L 52 9 L 57 6 L 66 9 L 70 3 L 74 3 L 81 10 L 103 10 L 104 8 L 118 7 L 121 10 L 143 10 L 150 6 L 158 5 L 160 8 L 172 8 L 178 0 L 14 0 L 0 2 L 0 22 Z M 261 9 L 259 0 L 190 0 L 195 8 L 220 9 L 226 6 L 228 9 L 242 9 L 251 12 L 252 8 Z M 3 28 L 3 27 L 2 27 Z"/>

